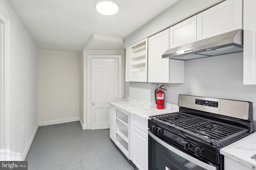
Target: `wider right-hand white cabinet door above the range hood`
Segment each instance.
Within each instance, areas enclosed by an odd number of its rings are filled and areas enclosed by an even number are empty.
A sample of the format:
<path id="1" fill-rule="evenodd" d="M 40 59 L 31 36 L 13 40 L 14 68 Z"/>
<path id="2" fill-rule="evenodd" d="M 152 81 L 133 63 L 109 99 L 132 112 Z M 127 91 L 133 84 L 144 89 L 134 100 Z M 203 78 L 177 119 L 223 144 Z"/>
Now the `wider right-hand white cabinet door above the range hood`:
<path id="1" fill-rule="evenodd" d="M 242 29 L 242 0 L 226 0 L 197 15 L 197 41 Z"/>

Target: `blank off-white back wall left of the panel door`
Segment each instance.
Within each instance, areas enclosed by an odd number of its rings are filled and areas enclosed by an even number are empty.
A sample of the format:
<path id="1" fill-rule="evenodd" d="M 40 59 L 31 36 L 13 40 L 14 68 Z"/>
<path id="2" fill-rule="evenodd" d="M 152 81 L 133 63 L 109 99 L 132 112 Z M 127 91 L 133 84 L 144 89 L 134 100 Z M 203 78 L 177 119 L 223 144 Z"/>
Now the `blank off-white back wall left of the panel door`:
<path id="1" fill-rule="evenodd" d="M 39 125 L 79 120 L 80 53 L 39 49 Z"/>

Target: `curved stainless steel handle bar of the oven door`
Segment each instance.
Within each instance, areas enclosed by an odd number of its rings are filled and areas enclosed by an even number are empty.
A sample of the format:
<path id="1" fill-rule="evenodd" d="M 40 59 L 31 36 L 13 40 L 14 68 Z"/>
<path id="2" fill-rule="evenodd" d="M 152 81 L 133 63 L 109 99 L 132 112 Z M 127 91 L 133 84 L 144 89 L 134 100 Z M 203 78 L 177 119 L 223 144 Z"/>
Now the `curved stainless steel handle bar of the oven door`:
<path id="1" fill-rule="evenodd" d="M 193 156 L 190 156 L 174 147 L 172 147 L 171 145 L 165 143 L 164 141 L 162 141 L 161 139 L 159 139 L 158 137 L 156 137 L 153 133 L 151 133 L 150 131 L 148 131 L 148 135 L 150 135 L 150 137 L 152 137 L 154 140 L 156 140 L 158 143 L 160 143 L 162 146 L 166 147 L 167 149 L 171 150 L 172 152 L 178 154 L 179 156 L 181 156 L 182 158 L 185 158 L 186 160 L 206 169 L 206 170 L 216 170 L 216 166 L 207 164 L 205 162 L 202 162 L 201 160 L 198 160 L 196 158 L 194 158 Z"/>

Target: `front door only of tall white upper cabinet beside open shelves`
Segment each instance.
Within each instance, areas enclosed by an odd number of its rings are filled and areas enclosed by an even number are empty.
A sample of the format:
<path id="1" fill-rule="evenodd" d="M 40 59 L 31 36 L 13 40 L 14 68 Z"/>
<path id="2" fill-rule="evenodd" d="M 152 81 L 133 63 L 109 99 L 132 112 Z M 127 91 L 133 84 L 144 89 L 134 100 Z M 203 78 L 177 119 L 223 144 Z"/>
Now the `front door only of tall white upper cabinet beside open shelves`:
<path id="1" fill-rule="evenodd" d="M 169 82 L 169 60 L 162 54 L 169 49 L 169 29 L 148 38 L 148 82 Z"/>

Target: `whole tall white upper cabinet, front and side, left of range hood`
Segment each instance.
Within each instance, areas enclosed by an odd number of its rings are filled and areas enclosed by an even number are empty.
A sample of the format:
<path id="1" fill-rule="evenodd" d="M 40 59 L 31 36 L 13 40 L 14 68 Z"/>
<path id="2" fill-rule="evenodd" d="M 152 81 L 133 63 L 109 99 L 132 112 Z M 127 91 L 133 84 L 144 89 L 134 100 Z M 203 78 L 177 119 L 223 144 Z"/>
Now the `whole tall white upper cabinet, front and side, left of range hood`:
<path id="1" fill-rule="evenodd" d="M 184 83 L 184 61 L 162 59 L 169 49 L 169 29 L 148 38 L 148 82 Z"/>

